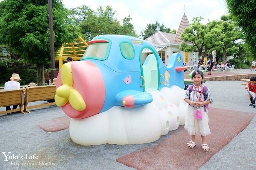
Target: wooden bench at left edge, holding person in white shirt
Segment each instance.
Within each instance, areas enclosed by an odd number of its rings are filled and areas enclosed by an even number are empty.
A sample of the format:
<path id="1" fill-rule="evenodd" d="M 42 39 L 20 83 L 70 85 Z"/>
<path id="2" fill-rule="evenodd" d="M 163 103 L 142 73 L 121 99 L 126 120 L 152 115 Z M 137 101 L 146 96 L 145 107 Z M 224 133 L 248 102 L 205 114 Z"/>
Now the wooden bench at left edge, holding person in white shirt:
<path id="1" fill-rule="evenodd" d="M 13 110 L 0 111 L 0 114 L 12 113 L 21 111 L 21 113 L 25 114 L 23 111 L 24 104 L 24 89 L 18 90 L 1 90 L 0 91 L 0 107 L 19 105 L 20 108 Z"/>

